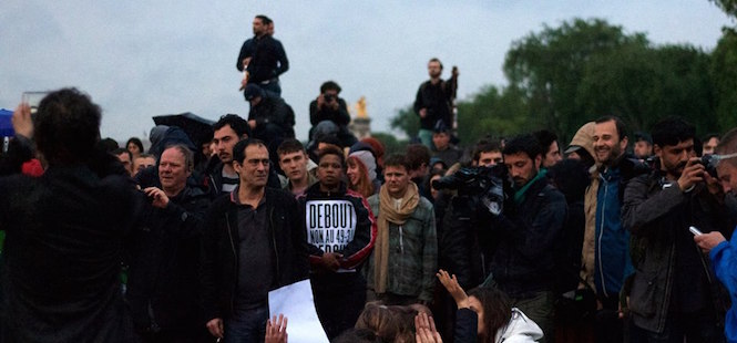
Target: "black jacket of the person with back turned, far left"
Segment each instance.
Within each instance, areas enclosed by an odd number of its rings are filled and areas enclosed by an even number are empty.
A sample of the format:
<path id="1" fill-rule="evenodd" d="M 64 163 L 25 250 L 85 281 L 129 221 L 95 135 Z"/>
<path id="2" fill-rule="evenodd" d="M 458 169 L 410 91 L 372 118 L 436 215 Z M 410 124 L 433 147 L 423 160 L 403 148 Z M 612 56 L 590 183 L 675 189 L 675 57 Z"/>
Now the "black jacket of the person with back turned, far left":
<path id="1" fill-rule="evenodd" d="M 4 178 L 0 189 L 10 335 L 124 342 L 120 262 L 133 201 L 124 177 L 50 168 L 38 179 Z"/>

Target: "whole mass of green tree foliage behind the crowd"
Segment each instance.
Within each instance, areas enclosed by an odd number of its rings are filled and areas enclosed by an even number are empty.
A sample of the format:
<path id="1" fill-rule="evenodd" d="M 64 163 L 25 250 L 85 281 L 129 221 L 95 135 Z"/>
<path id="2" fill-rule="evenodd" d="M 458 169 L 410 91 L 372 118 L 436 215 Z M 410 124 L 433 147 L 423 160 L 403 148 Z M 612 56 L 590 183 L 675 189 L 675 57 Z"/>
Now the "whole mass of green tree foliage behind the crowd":
<path id="1" fill-rule="evenodd" d="M 459 102 L 462 143 L 547 128 L 565 144 L 602 115 L 622 117 L 631 131 L 648 131 L 672 115 L 694 123 L 699 134 L 737 124 L 737 34 L 730 29 L 707 53 L 653 45 L 644 33 L 604 20 L 573 19 L 513 42 L 504 74 L 508 86 L 485 86 Z M 391 124 L 409 137 L 419 128 L 411 106 Z"/>

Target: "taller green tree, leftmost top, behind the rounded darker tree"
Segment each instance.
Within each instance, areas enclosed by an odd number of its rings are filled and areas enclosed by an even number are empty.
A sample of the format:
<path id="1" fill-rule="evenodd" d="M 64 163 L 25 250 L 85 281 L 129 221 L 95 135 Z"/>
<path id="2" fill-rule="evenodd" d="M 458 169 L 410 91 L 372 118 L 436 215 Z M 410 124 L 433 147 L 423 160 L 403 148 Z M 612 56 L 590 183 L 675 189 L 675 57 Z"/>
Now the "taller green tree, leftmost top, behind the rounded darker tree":
<path id="1" fill-rule="evenodd" d="M 567 138 L 591 114 L 576 105 L 586 63 L 625 45 L 647 46 L 643 33 L 625 34 L 622 27 L 601 19 L 574 19 L 559 28 L 513 42 L 504 61 L 510 86 L 523 92 L 529 116 Z"/>

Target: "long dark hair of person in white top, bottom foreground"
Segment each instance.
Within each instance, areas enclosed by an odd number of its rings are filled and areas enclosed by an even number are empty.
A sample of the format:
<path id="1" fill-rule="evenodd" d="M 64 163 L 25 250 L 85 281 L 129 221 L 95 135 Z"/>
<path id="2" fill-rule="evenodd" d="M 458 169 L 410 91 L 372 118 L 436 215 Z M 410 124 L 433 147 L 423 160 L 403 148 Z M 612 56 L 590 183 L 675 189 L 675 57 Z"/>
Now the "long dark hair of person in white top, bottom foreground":
<path id="1" fill-rule="evenodd" d="M 495 288 L 478 287 L 470 290 L 468 294 L 478 299 L 483 310 L 483 324 L 487 332 L 479 335 L 479 342 L 494 342 L 497 331 L 512 319 L 512 301 L 504 292 Z"/>

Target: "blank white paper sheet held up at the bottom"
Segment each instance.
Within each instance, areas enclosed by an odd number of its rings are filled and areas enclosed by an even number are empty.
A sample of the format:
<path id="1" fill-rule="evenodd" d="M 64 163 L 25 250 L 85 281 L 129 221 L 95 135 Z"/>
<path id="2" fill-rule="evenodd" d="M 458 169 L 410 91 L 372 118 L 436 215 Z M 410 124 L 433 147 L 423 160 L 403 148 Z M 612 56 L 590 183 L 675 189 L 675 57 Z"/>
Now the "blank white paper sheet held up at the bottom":
<path id="1" fill-rule="evenodd" d="M 268 292 L 268 310 L 272 315 L 284 314 L 289 342 L 328 343 L 323 324 L 317 318 L 313 287 L 303 280 Z"/>

